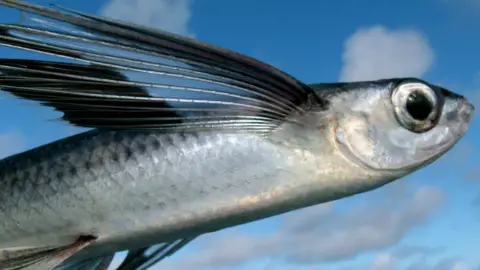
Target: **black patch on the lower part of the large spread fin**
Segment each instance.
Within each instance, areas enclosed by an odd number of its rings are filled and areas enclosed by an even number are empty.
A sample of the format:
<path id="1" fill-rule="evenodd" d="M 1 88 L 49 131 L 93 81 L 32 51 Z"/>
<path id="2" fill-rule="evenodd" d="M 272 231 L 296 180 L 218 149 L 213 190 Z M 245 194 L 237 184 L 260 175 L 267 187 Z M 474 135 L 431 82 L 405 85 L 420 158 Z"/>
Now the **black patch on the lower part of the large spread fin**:
<path id="1" fill-rule="evenodd" d="M 128 124 L 137 119 L 160 118 L 168 123 L 179 123 L 180 115 L 166 102 L 157 101 L 152 110 L 135 108 L 136 97 L 148 99 L 150 94 L 142 87 L 106 83 L 102 80 L 127 81 L 113 69 L 84 64 L 59 63 L 23 59 L 0 59 L 0 86 L 17 97 L 36 100 L 63 112 L 62 119 L 77 126 L 99 127 L 120 121 Z M 95 78 L 95 80 L 88 80 Z M 94 96 L 82 94 L 89 93 Z M 122 95 L 119 99 L 103 100 L 103 96 Z M 131 99 L 130 99 L 131 98 Z M 103 106 L 102 106 L 103 105 Z M 110 105 L 110 106 L 109 106 Z M 130 108 L 131 107 L 131 108 Z M 161 109 L 161 110 L 160 110 Z M 100 117 L 101 116 L 101 117 Z"/>

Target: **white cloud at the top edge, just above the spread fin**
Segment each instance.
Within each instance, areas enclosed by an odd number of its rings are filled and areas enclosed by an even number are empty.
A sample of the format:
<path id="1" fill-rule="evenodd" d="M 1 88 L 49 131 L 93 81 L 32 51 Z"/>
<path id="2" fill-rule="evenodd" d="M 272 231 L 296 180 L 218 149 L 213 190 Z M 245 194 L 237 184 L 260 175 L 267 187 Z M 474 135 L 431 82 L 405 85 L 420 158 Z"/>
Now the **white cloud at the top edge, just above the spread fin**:
<path id="1" fill-rule="evenodd" d="M 192 17 L 189 0 L 110 0 L 101 14 L 180 35 L 194 36 L 188 29 Z"/>

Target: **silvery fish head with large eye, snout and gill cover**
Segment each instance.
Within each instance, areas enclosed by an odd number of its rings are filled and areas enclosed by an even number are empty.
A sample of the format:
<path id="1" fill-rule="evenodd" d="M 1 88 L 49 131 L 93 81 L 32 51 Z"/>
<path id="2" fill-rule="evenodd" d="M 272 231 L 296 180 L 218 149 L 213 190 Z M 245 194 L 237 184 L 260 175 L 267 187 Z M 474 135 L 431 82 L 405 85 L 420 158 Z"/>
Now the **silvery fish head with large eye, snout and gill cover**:
<path id="1" fill-rule="evenodd" d="M 405 174 L 437 160 L 467 132 L 474 112 L 463 96 L 413 78 L 333 89 L 322 95 L 335 120 L 336 147 L 375 171 Z"/>

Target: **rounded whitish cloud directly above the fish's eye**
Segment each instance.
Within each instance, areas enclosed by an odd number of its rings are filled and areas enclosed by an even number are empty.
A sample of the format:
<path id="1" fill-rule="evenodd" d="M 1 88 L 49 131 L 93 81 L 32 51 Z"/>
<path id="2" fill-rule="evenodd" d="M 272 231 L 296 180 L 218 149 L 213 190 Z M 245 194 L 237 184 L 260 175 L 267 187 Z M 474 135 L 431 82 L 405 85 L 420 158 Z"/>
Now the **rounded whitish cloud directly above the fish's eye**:
<path id="1" fill-rule="evenodd" d="M 359 29 L 345 42 L 340 79 L 421 77 L 433 61 L 433 51 L 418 31 L 374 26 Z"/>

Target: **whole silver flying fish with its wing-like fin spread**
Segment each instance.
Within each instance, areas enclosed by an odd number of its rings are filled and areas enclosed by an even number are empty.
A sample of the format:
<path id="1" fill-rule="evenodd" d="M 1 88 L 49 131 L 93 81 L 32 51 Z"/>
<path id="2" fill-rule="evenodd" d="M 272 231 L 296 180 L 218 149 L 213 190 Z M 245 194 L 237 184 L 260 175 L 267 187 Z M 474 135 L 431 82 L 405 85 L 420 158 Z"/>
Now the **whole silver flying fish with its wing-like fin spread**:
<path id="1" fill-rule="evenodd" d="M 170 33 L 0 5 L 62 25 L 0 24 L 0 45 L 74 61 L 0 59 L 0 89 L 93 128 L 0 161 L 0 269 L 162 242 L 172 254 L 198 235 L 378 188 L 448 152 L 474 110 L 420 79 L 307 85 Z"/>

